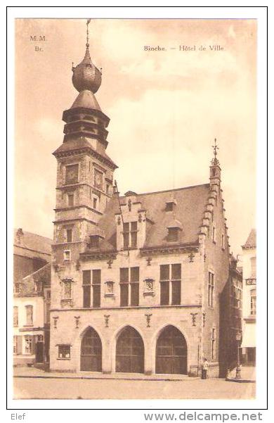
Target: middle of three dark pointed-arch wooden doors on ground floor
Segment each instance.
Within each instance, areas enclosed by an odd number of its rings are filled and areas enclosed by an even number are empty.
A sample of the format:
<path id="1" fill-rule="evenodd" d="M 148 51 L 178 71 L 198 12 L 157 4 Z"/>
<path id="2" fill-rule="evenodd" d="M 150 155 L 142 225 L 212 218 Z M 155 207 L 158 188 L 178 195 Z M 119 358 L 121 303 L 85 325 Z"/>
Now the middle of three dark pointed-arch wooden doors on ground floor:
<path id="1" fill-rule="evenodd" d="M 116 372 L 144 372 L 144 343 L 141 335 L 131 326 L 122 329 L 116 342 Z"/>

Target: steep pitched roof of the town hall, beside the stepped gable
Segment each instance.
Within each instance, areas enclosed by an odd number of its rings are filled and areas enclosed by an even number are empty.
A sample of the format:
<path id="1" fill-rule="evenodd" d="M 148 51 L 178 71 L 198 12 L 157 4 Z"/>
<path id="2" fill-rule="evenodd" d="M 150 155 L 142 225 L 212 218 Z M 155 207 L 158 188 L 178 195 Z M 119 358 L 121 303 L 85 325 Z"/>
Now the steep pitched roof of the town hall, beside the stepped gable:
<path id="1" fill-rule="evenodd" d="M 170 201 L 171 194 L 176 200 L 176 206 L 174 211 L 167 212 L 166 202 Z M 151 221 L 148 223 L 145 247 L 196 244 L 208 196 L 209 184 L 136 194 L 136 202 L 140 202 L 141 208 L 147 210 Z M 124 203 L 125 199 L 125 196 L 120 197 L 120 203 Z M 120 213 L 119 199 L 118 195 L 114 194 L 98 222 L 99 227 L 105 232 L 105 239 L 100 243 L 100 251 L 116 249 L 116 213 Z M 178 241 L 174 243 L 167 241 L 167 227 L 171 219 L 178 220 L 182 228 L 179 231 Z"/>

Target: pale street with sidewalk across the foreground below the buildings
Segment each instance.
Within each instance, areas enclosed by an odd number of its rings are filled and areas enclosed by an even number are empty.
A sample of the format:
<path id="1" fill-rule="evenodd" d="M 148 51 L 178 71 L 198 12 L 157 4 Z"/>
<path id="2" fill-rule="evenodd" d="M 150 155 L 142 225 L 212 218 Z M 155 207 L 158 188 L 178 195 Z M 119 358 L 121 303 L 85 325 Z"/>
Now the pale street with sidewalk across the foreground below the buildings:
<path id="1" fill-rule="evenodd" d="M 22 377 L 24 371 L 30 377 Z M 123 374 L 93 374 L 93 379 L 79 379 L 74 374 L 50 373 L 46 377 L 43 374 L 45 373 L 37 369 L 15 369 L 17 377 L 14 378 L 14 398 L 233 400 L 253 399 L 256 393 L 254 383 L 235 383 L 224 379 L 201 380 L 178 375 L 154 375 L 145 378 L 138 374 L 133 375 L 134 380 Z M 87 376 L 82 373 L 81 377 Z"/>

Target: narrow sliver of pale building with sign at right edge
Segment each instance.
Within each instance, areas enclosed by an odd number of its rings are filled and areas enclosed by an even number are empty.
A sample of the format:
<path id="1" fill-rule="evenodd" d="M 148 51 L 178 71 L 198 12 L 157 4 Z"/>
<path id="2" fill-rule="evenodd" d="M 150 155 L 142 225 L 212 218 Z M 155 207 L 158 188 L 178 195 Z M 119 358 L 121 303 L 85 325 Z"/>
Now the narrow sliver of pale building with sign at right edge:
<path id="1" fill-rule="evenodd" d="M 256 363 L 256 229 L 242 246 L 242 362 Z"/>

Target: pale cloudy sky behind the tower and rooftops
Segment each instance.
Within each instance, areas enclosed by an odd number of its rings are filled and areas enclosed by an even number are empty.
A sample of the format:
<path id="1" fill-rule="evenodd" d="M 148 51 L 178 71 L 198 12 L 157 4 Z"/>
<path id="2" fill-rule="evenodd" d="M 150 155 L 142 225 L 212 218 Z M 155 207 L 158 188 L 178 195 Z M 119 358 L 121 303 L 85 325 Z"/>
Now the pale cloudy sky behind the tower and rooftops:
<path id="1" fill-rule="evenodd" d="M 119 166 L 120 193 L 209 182 L 216 137 L 230 251 L 241 253 L 256 227 L 256 21 L 119 19 L 89 27 L 91 58 L 103 68 L 96 98 L 110 118 L 107 154 Z M 51 238 L 51 153 L 63 143 L 62 113 L 78 94 L 71 67 L 84 57 L 85 37 L 85 20 L 16 22 L 15 227 Z M 144 50 L 158 45 L 166 50 Z"/>

